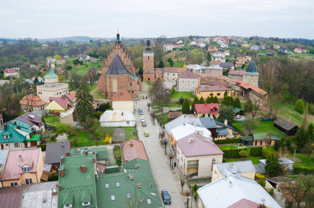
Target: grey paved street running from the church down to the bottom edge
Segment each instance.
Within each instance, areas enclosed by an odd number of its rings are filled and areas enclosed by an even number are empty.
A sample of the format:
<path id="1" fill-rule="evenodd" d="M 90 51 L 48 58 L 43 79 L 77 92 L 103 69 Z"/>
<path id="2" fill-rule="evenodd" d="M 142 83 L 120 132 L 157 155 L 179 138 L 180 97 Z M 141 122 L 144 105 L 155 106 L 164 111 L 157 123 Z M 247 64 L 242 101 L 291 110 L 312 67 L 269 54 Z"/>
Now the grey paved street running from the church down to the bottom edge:
<path id="1" fill-rule="evenodd" d="M 171 205 L 166 205 L 166 207 L 185 207 L 185 199 L 180 194 L 180 181 L 176 179 L 176 174 L 171 172 L 169 159 L 165 155 L 165 149 L 160 144 L 160 127 L 156 121 L 155 125 L 152 124 L 148 112 L 147 100 L 138 101 L 136 107 L 142 108 L 144 112 L 144 115 L 139 115 L 138 111 L 135 112 L 136 127 L 139 130 L 139 139 L 144 143 L 150 167 L 158 186 L 159 194 L 164 189 L 169 191 L 172 202 Z M 147 127 L 142 127 L 141 117 L 144 117 Z M 149 137 L 144 137 L 144 131 L 149 131 Z M 167 146 L 167 152 L 168 150 L 169 145 Z"/>

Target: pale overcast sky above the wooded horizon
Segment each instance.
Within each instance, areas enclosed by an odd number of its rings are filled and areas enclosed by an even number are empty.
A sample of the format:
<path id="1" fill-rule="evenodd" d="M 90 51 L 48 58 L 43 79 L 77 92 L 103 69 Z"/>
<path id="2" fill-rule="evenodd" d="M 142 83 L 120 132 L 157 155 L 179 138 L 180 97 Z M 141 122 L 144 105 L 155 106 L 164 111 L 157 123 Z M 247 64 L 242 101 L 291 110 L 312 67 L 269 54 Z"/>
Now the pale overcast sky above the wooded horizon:
<path id="1" fill-rule="evenodd" d="M 258 35 L 314 39 L 313 0 L 1 0 L 0 37 Z"/>

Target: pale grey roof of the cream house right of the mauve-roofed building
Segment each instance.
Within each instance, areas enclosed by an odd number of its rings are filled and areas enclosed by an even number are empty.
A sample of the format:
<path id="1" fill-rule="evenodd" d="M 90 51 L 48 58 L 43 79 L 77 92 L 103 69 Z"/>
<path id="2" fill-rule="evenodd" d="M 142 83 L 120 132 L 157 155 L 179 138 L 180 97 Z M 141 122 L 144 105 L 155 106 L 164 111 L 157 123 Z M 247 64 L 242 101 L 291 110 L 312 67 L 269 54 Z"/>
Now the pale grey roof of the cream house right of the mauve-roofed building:
<path id="1" fill-rule="evenodd" d="M 255 171 L 254 165 L 251 160 L 218 163 L 217 168 L 222 176 L 234 174 L 236 172 L 246 173 Z"/>

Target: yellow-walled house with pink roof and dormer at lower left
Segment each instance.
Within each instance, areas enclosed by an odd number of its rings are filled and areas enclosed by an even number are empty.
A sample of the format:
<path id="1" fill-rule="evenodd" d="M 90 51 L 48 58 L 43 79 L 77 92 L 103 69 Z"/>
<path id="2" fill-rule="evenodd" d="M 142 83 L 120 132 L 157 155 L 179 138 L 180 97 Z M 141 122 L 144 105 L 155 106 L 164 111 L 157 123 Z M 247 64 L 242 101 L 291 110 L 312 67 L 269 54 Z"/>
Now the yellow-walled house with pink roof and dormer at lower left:
<path id="1" fill-rule="evenodd" d="M 0 181 L 3 187 L 40 183 L 43 168 L 41 148 L 11 149 Z"/>

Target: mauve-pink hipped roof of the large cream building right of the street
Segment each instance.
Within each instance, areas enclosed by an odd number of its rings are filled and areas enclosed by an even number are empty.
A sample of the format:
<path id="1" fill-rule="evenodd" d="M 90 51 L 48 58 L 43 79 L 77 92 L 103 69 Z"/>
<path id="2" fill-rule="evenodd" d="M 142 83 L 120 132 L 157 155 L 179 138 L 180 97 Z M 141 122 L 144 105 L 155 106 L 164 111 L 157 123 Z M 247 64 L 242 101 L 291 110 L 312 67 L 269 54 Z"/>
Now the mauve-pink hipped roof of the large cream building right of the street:
<path id="1" fill-rule="evenodd" d="M 192 139 L 189 142 L 189 139 Z M 176 141 L 185 157 L 222 155 L 224 152 L 210 139 L 197 133 L 192 133 Z"/>

